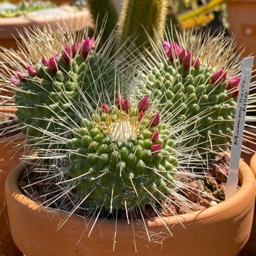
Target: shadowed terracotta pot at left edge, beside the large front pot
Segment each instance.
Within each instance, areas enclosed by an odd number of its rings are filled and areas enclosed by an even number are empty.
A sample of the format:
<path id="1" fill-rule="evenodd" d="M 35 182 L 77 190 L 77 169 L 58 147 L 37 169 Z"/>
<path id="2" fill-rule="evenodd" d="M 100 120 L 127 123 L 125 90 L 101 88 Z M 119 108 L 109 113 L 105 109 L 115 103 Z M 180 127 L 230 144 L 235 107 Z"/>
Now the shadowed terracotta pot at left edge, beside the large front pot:
<path id="1" fill-rule="evenodd" d="M 24 152 L 24 148 L 18 150 L 14 148 L 18 143 L 24 141 L 24 136 L 13 136 L 7 139 L 0 139 L 0 255 L 23 255 L 13 243 L 7 207 L 5 203 L 5 179 L 10 170 L 20 162 L 19 158 Z"/>

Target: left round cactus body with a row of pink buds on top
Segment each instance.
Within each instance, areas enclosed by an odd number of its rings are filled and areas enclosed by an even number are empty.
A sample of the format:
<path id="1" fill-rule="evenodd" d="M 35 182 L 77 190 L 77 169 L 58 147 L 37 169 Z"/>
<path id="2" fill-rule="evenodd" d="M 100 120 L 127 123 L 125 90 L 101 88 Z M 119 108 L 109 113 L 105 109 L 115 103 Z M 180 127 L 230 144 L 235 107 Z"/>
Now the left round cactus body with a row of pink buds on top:
<path id="1" fill-rule="evenodd" d="M 93 50 L 71 57 L 67 47 L 68 56 L 44 59 L 44 65 L 30 66 L 32 73 L 20 74 L 16 115 L 30 137 L 40 138 L 46 131 L 63 133 L 67 123 L 78 121 L 77 110 L 83 113 L 86 106 L 98 103 L 100 92 L 113 94 L 115 67 Z"/>

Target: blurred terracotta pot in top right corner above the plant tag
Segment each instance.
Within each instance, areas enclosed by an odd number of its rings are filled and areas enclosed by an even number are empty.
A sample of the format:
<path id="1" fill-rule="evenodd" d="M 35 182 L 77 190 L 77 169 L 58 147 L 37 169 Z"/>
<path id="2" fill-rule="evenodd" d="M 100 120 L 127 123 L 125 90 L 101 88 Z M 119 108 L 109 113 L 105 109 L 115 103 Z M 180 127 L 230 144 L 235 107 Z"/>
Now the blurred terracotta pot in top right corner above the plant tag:
<path id="1" fill-rule="evenodd" d="M 243 57 L 253 54 L 256 56 L 256 1 L 233 0 L 227 4 L 228 23 L 230 32 L 234 34 L 238 52 L 243 52 Z M 242 46 L 242 48 L 240 48 Z M 256 64 L 256 59 L 254 60 Z"/>

